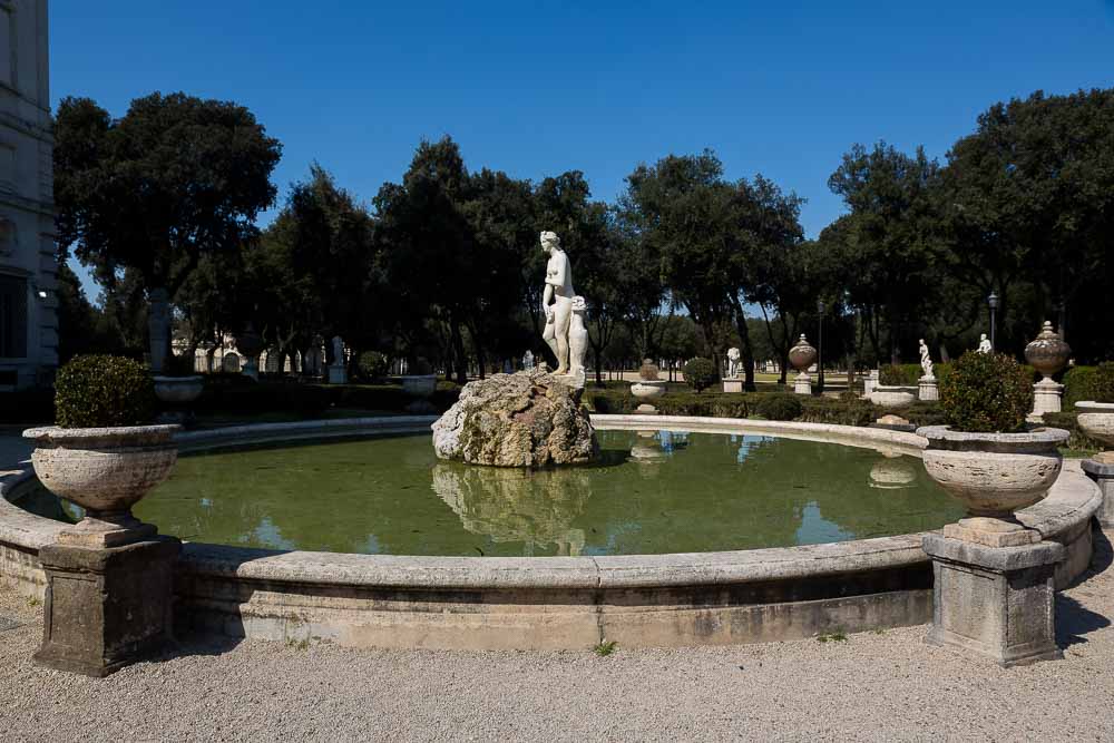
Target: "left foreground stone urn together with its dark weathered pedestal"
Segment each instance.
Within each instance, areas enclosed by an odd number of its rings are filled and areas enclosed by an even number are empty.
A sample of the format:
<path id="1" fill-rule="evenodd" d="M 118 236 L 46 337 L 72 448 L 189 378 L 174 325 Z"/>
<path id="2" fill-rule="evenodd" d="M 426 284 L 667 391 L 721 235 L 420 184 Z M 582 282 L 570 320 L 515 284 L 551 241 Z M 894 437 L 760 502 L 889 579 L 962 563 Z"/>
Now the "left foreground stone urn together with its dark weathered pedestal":
<path id="1" fill-rule="evenodd" d="M 180 542 L 131 515 L 177 460 L 177 426 L 29 429 L 42 485 L 85 518 L 39 550 L 47 577 L 40 665 L 107 676 L 170 634 Z"/>

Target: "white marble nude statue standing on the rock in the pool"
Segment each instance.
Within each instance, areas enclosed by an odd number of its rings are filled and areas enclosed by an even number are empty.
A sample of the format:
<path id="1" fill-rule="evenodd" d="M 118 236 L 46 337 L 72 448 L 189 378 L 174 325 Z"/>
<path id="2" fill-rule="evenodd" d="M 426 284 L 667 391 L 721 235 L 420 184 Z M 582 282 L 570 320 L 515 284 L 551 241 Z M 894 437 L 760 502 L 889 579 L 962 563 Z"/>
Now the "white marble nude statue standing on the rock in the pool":
<path id="1" fill-rule="evenodd" d="M 541 339 L 557 356 L 555 374 L 583 374 L 588 335 L 584 325 L 587 305 L 573 289 L 573 266 L 565 251 L 560 250 L 557 234 L 541 233 L 541 248 L 549 253 L 546 289 L 541 297 L 541 310 L 546 313 Z"/>

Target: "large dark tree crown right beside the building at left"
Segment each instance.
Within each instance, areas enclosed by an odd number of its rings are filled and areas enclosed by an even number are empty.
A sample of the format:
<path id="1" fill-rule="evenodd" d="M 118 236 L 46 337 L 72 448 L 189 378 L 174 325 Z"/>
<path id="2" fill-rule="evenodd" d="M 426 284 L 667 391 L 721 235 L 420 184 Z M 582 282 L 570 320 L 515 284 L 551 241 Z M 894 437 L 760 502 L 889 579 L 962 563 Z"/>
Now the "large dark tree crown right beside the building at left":
<path id="1" fill-rule="evenodd" d="M 55 126 L 62 245 L 101 280 L 131 268 L 173 299 L 206 253 L 236 251 L 275 197 L 281 147 L 243 106 L 152 94 L 113 119 L 63 98 Z"/>

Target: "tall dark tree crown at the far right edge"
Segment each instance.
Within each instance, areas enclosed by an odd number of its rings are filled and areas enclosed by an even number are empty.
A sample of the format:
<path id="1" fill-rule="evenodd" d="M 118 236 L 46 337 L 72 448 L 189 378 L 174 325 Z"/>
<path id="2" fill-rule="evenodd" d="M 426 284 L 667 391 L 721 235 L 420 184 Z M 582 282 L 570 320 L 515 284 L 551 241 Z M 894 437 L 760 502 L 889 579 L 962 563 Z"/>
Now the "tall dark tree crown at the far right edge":
<path id="1" fill-rule="evenodd" d="M 944 182 L 950 267 L 983 307 L 998 295 L 999 348 L 1019 351 L 1042 315 L 1059 307 L 1063 325 L 1071 307 L 1076 352 L 1106 351 L 1114 89 L 995 104 L 948 153 Z"/>

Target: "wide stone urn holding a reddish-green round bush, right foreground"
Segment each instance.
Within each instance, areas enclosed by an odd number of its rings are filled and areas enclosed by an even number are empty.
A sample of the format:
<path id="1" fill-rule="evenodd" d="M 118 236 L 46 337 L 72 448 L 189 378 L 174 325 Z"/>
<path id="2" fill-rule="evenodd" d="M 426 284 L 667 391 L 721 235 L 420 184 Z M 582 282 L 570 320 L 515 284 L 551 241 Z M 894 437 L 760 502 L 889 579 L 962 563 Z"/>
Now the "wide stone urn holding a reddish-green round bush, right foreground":
<path id="1" fill-rule="evenodd" d="M 945 527 L 946 537 L 987 547 L 1040 541 L 1014 512 L 1042 500 L 1059 477 L 1063 457 L 1056 448 L 1067 441 L 1067 431 L 969 433 L 929 426 L 917 434 L 928 439 L 922 456 L 928 476 L 967 509 L 968 518 Z"/>

